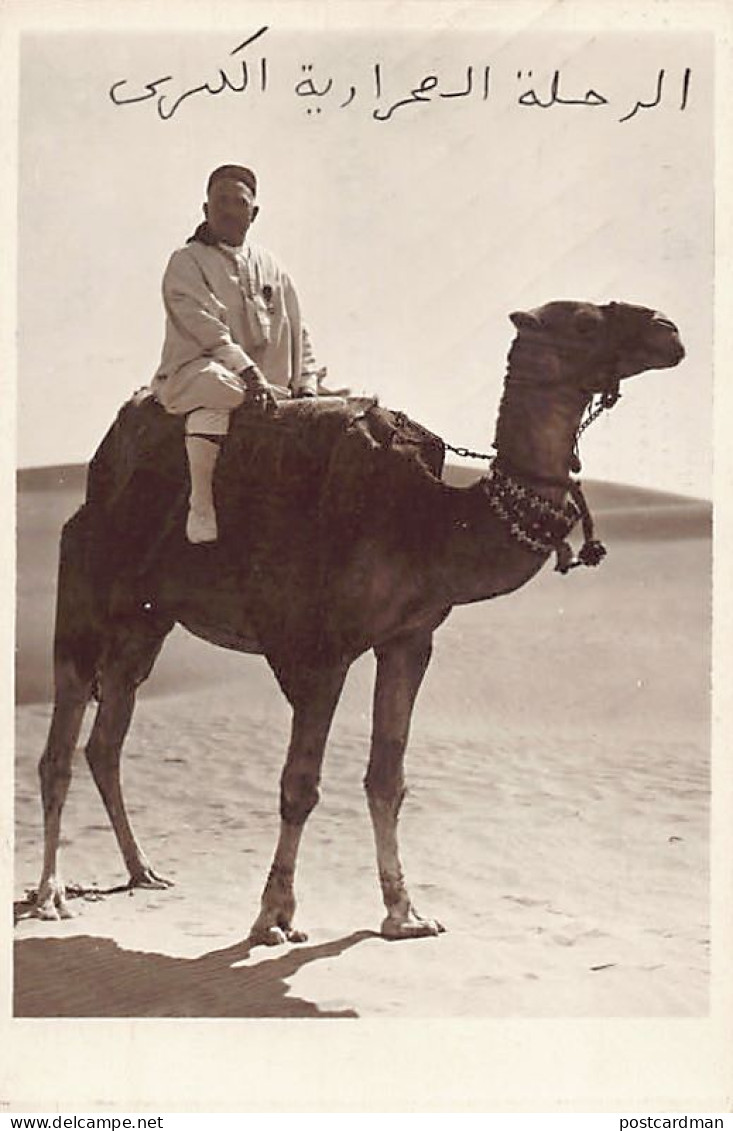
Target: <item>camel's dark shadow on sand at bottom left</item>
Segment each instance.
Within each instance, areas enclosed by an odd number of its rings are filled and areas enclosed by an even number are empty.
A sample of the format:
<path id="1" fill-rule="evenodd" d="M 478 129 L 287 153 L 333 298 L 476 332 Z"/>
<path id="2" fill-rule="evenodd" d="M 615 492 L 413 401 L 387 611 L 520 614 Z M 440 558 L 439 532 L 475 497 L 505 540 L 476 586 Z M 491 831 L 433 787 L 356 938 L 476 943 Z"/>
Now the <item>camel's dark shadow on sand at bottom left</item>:
<path id="1" fill-rule="evenodd" d="M 23 939 L 15 944 L 15 1017 L 357 1017 L 288 995 L 303 966 L 379 938 L 356 931 L 240 966 L 249 941 L 200 958 L 123 950 L 111 939 Z M 258 948 L 258 953 L 265 953 Z"/>

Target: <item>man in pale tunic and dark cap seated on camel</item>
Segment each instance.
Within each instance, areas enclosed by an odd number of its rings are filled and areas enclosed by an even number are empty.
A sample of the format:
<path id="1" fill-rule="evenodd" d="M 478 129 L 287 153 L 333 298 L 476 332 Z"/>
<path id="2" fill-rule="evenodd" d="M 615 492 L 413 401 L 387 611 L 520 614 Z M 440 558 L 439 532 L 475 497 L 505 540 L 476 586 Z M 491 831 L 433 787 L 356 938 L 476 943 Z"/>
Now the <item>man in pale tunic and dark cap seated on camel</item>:
<path id="1" fill-rule="evenodd" d="M 208 179 L 205 222 L 174 251 L 163 277 L 166 325 L 152 387 L 186 416 L 191 493 L 189 542 L 215 542 L 213 478 L 230 415 L 244 399 L 264 412 L 278 399 L 314 397 L 318 370 L 290 276 L 250 243 L 257 178 L 222 165 Z"/>

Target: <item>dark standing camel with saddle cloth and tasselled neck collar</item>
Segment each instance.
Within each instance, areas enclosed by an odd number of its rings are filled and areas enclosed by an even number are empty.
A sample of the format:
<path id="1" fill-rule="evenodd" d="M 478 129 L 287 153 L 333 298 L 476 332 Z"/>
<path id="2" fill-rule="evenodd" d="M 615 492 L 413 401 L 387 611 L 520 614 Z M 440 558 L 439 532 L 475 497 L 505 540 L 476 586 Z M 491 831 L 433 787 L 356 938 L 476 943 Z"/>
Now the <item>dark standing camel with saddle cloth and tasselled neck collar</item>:
<path id="1" fill-rule="evenodd" d="M 70 916 L 58 870 L 61 811 L 87 705 L 96 717 L 86 758 L 129 884 L 169 886 L 126 812 L 120 757 L 136 689 L 174 623 L 266 657 L 292 707 L 281 777 L 279 837 L 250 939 L 303 941 L 294 875 L 346 673 L 377 659 L 364 787 L 388 939 L 436 935 L 400 863 L 411 716 L 432 637 L 455 605 L 519 589 L 553 552 L 562 572 L 583 520 L 580 561 L 603 549 L 577 481 L 585 421 L 619 382 L 676 365 L 676 327 L 645 307 L 557 301 L 509 316 L 511 344 L 490 469 L 467 487 L 441 480 L 443 442 L 374 402 L 283 402 L 264 417 L 235 414 L 215 481 L 219 539 L 184 536 L 188 482 L 182 423 L 143 391 L 120 411 L 89 466 L 86 501 L 60 547 L 55 697 L 40 761 L 44 861 L 36 914 Z M 596 400 L 601 397 L 601 404 Z M 594 404 L 597 406 L 594 409 Z"/>

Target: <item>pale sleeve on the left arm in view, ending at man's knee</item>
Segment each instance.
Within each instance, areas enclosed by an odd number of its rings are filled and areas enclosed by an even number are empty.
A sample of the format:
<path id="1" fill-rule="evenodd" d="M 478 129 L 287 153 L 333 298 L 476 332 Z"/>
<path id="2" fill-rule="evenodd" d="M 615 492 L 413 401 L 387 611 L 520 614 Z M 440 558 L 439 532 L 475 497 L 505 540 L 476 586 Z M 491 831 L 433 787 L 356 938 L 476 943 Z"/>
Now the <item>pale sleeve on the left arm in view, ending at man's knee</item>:
<path id="1" fill-rule="evenodd" d="M 232 340 L 226 307 L 210 290 L 199 265 L 184 248 L 173 253 L 165 270 L 163 302 L 178 333 L 198 343 L 202 357 L 213 357 L 233 373 L 255 364 Z"/>

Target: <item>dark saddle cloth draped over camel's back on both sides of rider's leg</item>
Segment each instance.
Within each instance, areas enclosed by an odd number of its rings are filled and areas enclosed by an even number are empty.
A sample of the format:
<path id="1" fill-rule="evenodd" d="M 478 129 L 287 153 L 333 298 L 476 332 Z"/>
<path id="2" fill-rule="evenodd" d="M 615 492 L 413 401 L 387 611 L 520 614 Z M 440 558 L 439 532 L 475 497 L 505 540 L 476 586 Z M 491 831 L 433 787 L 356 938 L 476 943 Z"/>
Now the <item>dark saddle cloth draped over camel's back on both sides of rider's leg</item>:
<path id="1" fill-rule="evenodd" d="M 440 478 L 443 460 L 439 437 L 373 399 L 281 402 L 268 415 L 242 407 L 217 463 L 219 541 L 236 537 L 243 518 L 275 521 L 284 508 L 353 526 L 376 477 L 388 498 L 390 481 L 405 474 Z M 122 405 L 89 464 L 85 509 L 106 570 L 144 571 L 163 542 L 184 542 L 188 494 L 183 418 L 144 389 Z"/>

